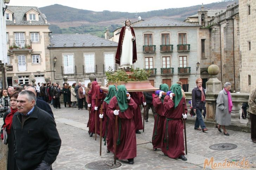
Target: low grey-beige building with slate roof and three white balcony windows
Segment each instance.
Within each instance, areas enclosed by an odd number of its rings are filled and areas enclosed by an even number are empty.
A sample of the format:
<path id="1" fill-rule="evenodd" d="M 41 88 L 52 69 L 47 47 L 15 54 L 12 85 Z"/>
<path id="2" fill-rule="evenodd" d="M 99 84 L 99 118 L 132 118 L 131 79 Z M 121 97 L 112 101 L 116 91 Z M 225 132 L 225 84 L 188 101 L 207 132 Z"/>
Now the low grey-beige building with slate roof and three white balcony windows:
<path id="1" fill-rule="evenodd" d="M 50 51 L 51 82 L 63 84 L 84 82 L 87 86 L 90 74 L 106 84 L 106 71 L 116 70 L 117 43 L 90 34 L 51 34 Z M 56 59 L 56 63 L 54 62 Z"/>

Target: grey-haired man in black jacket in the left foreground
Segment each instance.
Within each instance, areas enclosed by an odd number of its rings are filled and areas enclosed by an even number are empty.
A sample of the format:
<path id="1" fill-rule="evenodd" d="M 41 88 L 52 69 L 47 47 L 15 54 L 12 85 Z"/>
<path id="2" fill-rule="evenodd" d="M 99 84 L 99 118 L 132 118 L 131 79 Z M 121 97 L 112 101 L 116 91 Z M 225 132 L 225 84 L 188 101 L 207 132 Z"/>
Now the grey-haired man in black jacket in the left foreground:
<path id="1" fill-rule="evenodd" d="M 32 91 L 21 91 L 13 116 L 14 157 L 20 170 L 51 169 L 61 140 L 53 118 L 36 105 Z"/>

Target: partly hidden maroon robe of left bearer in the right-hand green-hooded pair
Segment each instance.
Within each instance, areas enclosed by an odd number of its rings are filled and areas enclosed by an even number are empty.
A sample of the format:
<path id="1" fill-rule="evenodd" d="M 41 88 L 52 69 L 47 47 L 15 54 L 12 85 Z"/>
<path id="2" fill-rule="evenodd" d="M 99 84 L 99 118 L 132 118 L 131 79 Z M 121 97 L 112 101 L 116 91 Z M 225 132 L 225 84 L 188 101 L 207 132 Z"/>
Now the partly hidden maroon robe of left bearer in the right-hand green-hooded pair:
<path id="1" fill-rule="evenodd" d="M 164 129 L 165 122 L 165 113 L 164 113 L 164 104 L 161 99 L 155 95 L 153 98 L 153 106 L 155 107 L 155 123 L 152 136 L 152 145 L 153 148 L 162 147 L 162 132 Z"/>

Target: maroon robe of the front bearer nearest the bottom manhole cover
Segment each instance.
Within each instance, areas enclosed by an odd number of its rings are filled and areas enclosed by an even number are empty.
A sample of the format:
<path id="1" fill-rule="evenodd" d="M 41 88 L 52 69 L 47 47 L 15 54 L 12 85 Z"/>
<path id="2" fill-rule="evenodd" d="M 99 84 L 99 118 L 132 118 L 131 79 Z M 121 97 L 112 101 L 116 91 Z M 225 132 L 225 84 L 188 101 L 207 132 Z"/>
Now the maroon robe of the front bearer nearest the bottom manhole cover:
<path id="1" fill-rule="evenodd" d="M 116 110 L 117 99 L 114 96 L 109 103 L 107 115 L 109 119 L 115 122 L 114 110 Z M 120 130 L 120 144 L 116 145 L 116 157 L 119 159 L 130 159 L 137 155 L 136 146 L 136 135 L 135 135 L 135 125 L 133 122 L 133 110 L 136 109 L 137 104 L 132 98 L 128 101 L 128 109 L 124 112 L 119 111 L 117 129 L 114 128 L 115 123 L 113 123 L 113 134 L 117 130 L 117 138 L 119 134 L 119 120 L 121 121 Z M 116 141 L 117 141 L 116 138 Z"/>

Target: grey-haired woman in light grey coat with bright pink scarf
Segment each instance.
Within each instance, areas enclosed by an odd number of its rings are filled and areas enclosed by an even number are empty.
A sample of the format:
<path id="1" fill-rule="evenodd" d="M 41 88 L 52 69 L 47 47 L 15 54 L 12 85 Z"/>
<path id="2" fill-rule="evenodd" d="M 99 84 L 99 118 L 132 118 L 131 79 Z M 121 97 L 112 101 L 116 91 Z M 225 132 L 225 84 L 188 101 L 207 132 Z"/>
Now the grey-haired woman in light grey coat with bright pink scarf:
<path id="1" fill-rule="evenodd" d="M 219 132 L 222 132 L 220 127 L 223 128 L 224 135 L 229 136 L 229 133 L 226 131 L 225 126 L 231 124 L 231 110 L 232 110 L 232 97 L 230 94 L 231 83 L 226 82 L 224 84 L 224 88 L 222 91 L 219 92 L 217 98 L 217 106 L 216 106 L 216 117 L 215 120 L 217 121 Z"/>

